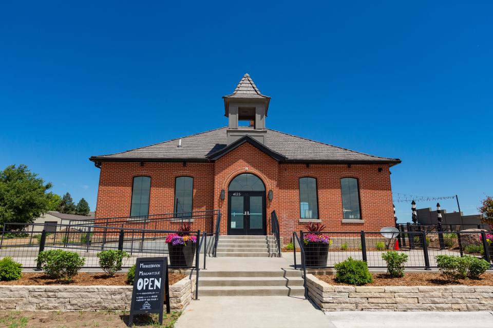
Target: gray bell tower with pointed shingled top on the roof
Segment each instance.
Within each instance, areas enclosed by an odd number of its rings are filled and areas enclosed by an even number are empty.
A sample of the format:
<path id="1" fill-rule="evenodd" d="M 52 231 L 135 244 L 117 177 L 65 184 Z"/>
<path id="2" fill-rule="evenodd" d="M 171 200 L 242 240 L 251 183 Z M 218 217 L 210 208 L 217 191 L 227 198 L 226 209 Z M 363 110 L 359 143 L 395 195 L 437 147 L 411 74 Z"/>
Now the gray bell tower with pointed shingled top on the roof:
<path id="1" fill-rule="evenodd" d="M 266 145 L 266 117 L 271 97 L 261 94 L 250 75 L 245 74 L 235 91 L 222 98 L 224 116 L 228 118 L 227 144 L 249 135 Z"/>

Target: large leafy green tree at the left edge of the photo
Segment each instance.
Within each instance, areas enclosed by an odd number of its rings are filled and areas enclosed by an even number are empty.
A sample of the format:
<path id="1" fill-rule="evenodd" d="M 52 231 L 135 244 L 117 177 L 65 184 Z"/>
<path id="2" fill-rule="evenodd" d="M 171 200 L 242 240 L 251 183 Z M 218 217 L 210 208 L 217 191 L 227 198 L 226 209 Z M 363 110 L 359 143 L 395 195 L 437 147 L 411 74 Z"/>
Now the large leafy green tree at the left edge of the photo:
<path id="1" fill-rule="evenodd" d="M 8 166 L 0 172 L 0 227 L 5 223 L 32 223 L 49 210 L 51 183 L 45 184 L 27 166 Z M 22 229 L 10 226 L 10 230 Z"/>

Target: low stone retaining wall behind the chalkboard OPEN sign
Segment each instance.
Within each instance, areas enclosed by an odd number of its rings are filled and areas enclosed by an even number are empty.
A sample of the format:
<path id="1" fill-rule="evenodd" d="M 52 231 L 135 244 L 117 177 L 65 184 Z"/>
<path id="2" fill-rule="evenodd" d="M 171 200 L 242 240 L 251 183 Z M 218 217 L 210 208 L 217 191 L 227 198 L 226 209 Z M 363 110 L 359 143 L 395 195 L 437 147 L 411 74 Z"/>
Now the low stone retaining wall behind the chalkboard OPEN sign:
<path id="1" fill-rule="evenodd" d="M 186 308 L 195 296 L 196 278 L 169 286 L 172 311 Z M 0 310 L 130 310 L 132 286 L 0 285 Z"/>

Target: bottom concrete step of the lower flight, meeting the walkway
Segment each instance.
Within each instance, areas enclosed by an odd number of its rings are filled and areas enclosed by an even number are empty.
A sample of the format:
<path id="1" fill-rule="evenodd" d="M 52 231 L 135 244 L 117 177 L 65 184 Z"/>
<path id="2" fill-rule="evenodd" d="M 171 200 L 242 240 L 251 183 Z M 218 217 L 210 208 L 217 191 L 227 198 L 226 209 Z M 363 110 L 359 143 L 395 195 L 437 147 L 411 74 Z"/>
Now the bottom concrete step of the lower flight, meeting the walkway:
<path id="1" fill-rule="evenodd" d="M 303 286 L 204 286 L 200 296 L 303 296 Z M 268 309 L 266 309 L 268 311 Z"/>

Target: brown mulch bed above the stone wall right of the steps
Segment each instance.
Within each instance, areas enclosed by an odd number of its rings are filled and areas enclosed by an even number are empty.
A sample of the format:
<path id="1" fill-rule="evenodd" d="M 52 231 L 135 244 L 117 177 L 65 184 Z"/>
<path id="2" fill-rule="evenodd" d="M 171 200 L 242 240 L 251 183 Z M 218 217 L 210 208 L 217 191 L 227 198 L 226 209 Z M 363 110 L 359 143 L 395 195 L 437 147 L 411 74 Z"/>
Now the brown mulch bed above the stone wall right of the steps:
<path id="1" fill-rule="evenodd" d="M 481 278 L 476 279 L 460 279 L 457 283 L 450 283 L 443 280 L 440 273 L 420 272 L 406 273 L 402 278 L 390 278 L 385 273 L 372 273 L 373 282 L 365 286 L 444 286 L 444 285 L 467 285 L 467 286 L 493 286 L 493 273 L 485 273 Z M 320 280 L 323 280 L 331 285 L 348 285 L 335 281 L 334 276 L 315 275 Z"/>

